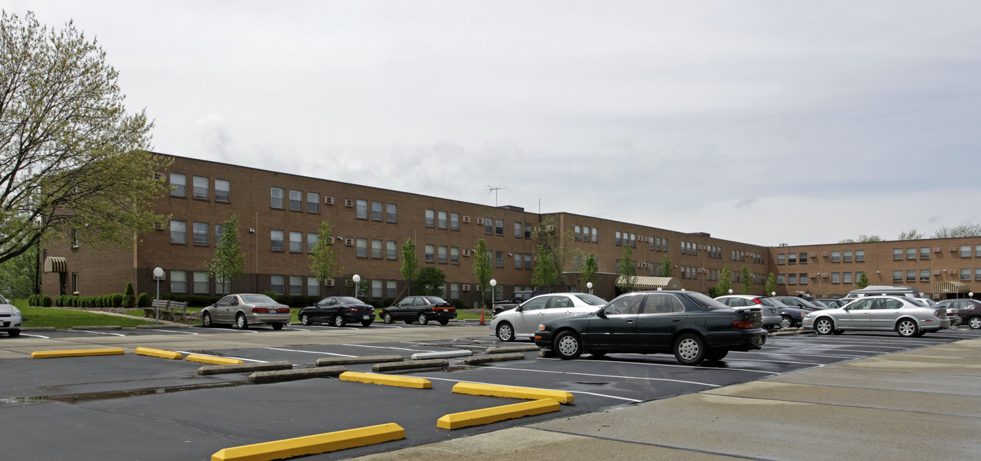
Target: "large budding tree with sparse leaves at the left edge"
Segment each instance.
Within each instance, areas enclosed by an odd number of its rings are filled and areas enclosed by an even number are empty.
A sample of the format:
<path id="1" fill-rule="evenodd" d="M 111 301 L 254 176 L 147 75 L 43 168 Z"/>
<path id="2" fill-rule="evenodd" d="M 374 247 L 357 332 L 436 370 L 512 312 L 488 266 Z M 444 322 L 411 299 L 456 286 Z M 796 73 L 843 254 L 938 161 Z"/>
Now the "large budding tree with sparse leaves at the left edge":
<path id="1" fill-rule="evenodd" d="M 0 48 L 0 263 L 49 234 L 131 246 L 165 222 L 153 172 L 171 162 L 149 152 L 153 123 L 127 114 L 96 41 L 4 12 Z"/>

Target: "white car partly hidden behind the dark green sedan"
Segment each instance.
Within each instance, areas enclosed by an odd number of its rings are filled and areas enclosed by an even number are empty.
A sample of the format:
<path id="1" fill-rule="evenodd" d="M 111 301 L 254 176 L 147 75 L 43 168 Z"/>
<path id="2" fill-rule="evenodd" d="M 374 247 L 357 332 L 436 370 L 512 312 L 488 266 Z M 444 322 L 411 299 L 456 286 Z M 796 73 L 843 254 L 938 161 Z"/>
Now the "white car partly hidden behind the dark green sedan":
<path id="1" fill-rule="evenodd" d="M 589 293 L 542 294 L 529 299 L 514 309 L 495 314 L 490 321 L 490 334 L 502 341 L 515 337 L 535 338 L 539 325 L 556 319 L 592 314 L 606 300 Z"/>

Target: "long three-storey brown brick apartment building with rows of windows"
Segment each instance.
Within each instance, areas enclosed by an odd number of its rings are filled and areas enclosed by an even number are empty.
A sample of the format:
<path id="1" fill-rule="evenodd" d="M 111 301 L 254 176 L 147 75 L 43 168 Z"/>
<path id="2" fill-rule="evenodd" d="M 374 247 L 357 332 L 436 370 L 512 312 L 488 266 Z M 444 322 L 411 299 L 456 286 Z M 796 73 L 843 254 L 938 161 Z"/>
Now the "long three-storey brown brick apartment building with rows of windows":
<path id="1" fill-rule="evenodd" d="M 491 252 L 495 298 L 508 297 L 514 290 L 532 287 L 536 252 L 532 234 L 547 217 L 554 219 L 558 230 L 574 235 L 572 245 L 582 256 L 595 255 L 599 271 L 594 292 L 607 299 L 615 294 L 616 268 L 625 245 L 634 250 L 640 287 L 654 286 L 651 283 L 656 281 L 645 277 L 654 276 L 667 256 L 677 282 L 700 292 L 718 282 L 726 264 L 737 287 L 742 267 L 749 267 L 753 291 L 759 293 L 769 273 L 780 279 L 781 293 L 805 290 L 841 295 L 854 288 L 856 273 L 866 272 L 873 284 L 893 284 L 897 271 L 902 273 L 903 284 L 924 292 L 933 292 L 937 282 L 961 283 L 938 288 L 955 290 L 951 293 L 967 292 L 963 289 L 981 292 L 981 238 L 768 248 L 703 232 L 650 228 L 572 213 L 537 214 L 513 206 L 490 207 L 168 157 L 174 162 L 159 175 L 170 181 L 173 191 L 158 200 L 156 209 L 170 215 L 171 221 L 134 238 L 129 248 L 96 249 L 68 239 L 44 248 L 44 294 L 122 292 L 127 282 L 133 282 L 137 292 L 153 294 L 157 281 L 152 272 L 160 267 L 166 274 L 160 282 L 161 293 L 353 294 L 350 279 L 357 274 L 369 298 L 392 299 L 405 294 L 399 273 L 401 245 L 411 237 L 420 264 L 445 273 L 446 297 L 472 305 L 482 298 L 472 259 L 478 239 L 484 238 Z M 213 258 L 222 225 L 232 214 L 239 216 L 245 275 L 231 286 L 220 286 L 208 277 L 204 263 Z M 338 266 L 343 268 L 343 275 L 327 284 L 316 281 L 308 259 L 321 222 L 328 224 L 336 238 Z M 906 257 L 905 247 L 911 243 L 917 245 L 915 258 Z M 929 247 L 930 258 L 922 257 L 921 246 Z M 903 258 L 895 258 L 894 247 L 904 251 Z M 954 247 L 956 251 L 950 249 Z M 963 248 L 968 247 L 969 255 L 963 256 Z M 582 256 L 567 262 L 563 268 L 566 286 L 560 289 L 575 289 Z M 921 280 L 924 270 L 929 270 L 928 281 Z M 915 282 L 909 282 L 909 271 L 916 271 Z M 964 271 L 972 271 L 967 279 Z"/>

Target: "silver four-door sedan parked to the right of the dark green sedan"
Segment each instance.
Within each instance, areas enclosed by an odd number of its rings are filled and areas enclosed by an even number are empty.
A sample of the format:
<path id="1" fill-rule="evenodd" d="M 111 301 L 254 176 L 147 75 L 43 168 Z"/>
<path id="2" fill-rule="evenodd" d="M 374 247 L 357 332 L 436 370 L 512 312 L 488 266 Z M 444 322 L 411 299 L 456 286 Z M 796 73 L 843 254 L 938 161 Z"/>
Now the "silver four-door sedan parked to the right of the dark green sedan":
<path id="1" fill-rule="evenodd" d="M 803 328 L 818 334 L 841 334 L 850 330 L 895 331 L 901 336 L 921 336 L 951 325 L 947 309 L 928 307 L 905 296 L 865 296 L 845 307 L 814 311 L 803 319 Z"/>

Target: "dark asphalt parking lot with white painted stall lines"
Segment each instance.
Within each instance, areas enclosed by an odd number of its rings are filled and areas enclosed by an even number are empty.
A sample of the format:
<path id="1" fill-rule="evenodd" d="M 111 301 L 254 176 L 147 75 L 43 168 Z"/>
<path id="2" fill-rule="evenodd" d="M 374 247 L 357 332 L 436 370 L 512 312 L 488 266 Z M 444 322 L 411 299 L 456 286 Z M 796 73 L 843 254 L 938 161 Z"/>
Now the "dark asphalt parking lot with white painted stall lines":
<path id="1" fill-rule="evenodd" d="M 463 435 L 557 420 L 669 396 L 688 394 L 901 352 L 981 333 L 949 330 L 918 338 L 895 333 L 771 336 L 762 350 L 732 352 L 717 366 L 687 367 L 671 355 L 588 355 L 563 361 L 524 352 L 521 360 L 403 372 L 430 389 L 312 379 L 248 384 L 247 374 L 198 376 L 201 364 L 129 353 L 137 346 L 234 357 L 246 363 L 288 361 L 309 368 L 324 357 L 361 357 L 470 351 L 501 346 L 487 327 L 373 325 L 370 328 L 289 326 L 255 329 L 132 329 L 25 332 L 0 338 L 0 434 L 5 453 L 38 459 L 206 459 L 237 445 L 396 423 L 406 438 L 314 457 L 340 459 L 422 445 Z M 527 342 L 506 345 L 527 345 Z M 32 350 L 123 347 L 122 356 L 36 360 Z M 347 365 L 371 372 L 372 364 Z M 572 392 L 575 402 L 556 413 L 476 426 L 438 429 L 439 417 L 519 400 L 455 394 L 453 384 L 480 383 Z M 36 443 L 43 435 L 50 443 Z"/>

